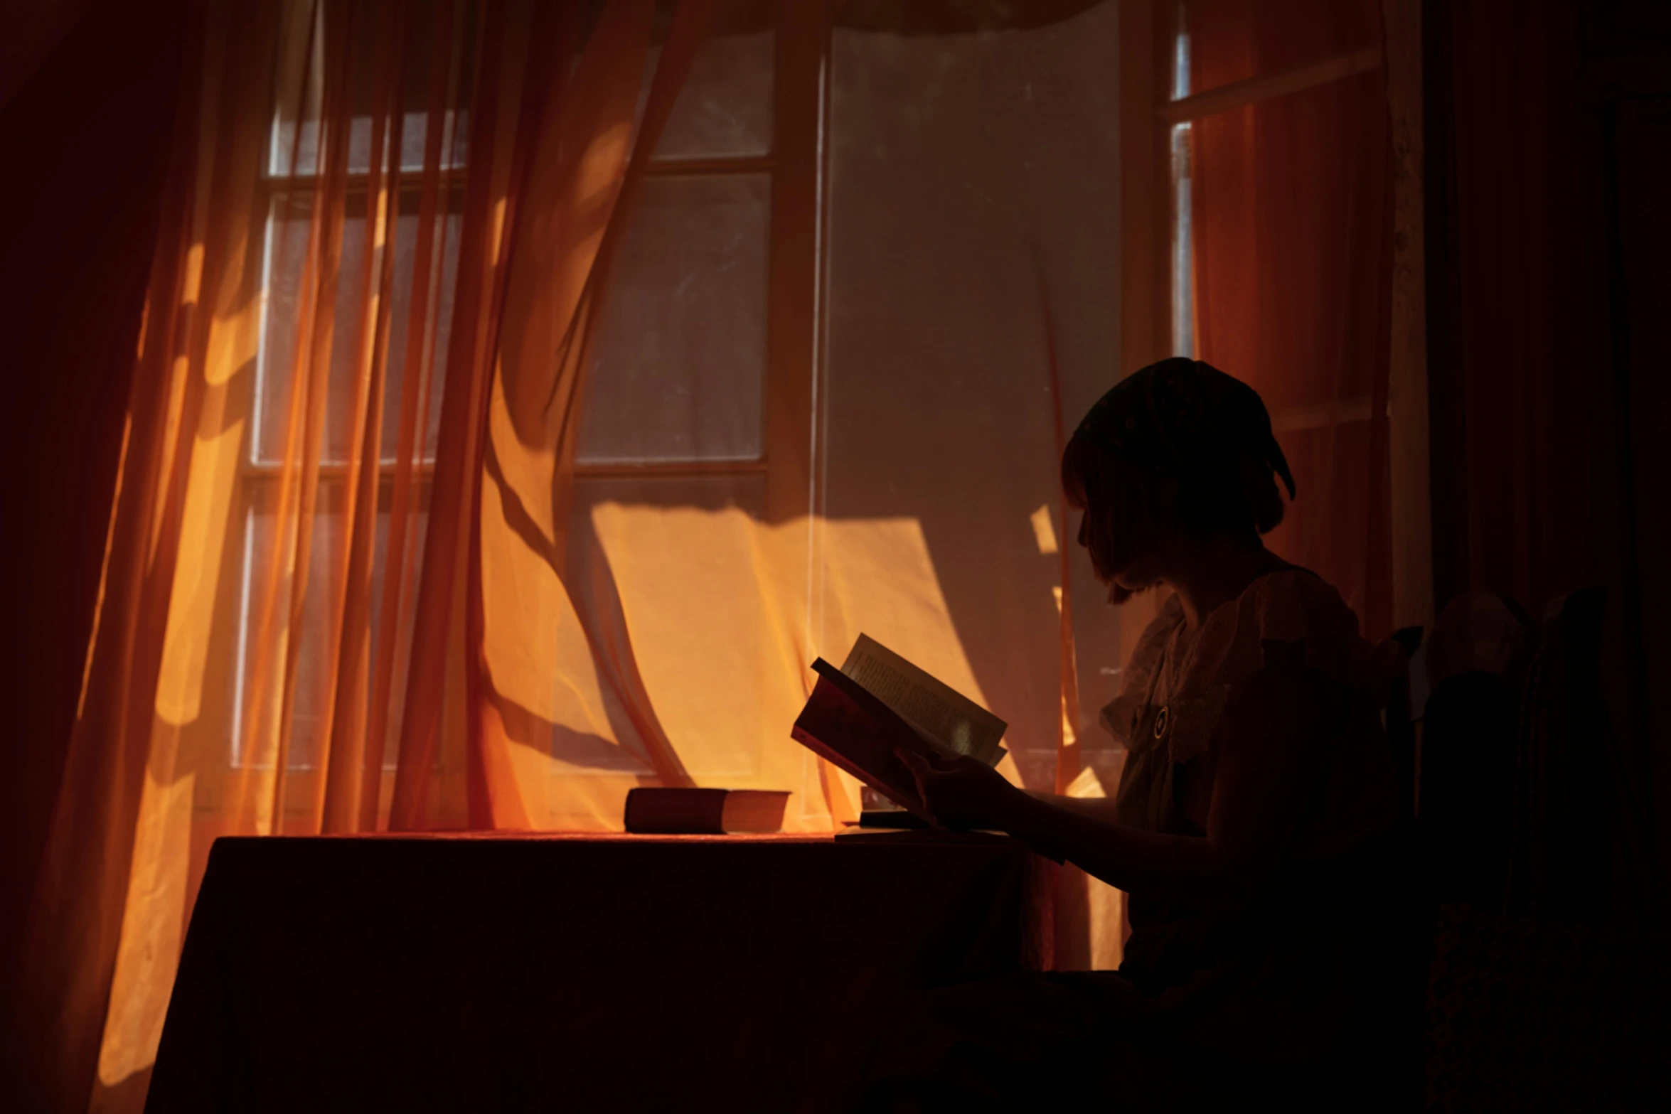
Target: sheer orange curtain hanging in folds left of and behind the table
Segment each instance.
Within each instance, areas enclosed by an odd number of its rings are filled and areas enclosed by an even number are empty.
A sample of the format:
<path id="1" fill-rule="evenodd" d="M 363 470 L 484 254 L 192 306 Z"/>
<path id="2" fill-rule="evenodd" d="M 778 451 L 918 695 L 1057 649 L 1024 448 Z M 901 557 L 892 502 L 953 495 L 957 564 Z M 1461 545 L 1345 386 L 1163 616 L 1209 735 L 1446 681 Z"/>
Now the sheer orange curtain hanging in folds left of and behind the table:
<path id="1" fill-rule="evenodd" d="M 709 8 L 657 53 L 653 0 L 207 5 L 25 929 L 43 1107 L 142 1104 L 217 835 L 523 820 L 483 476 L 515 453 L 565 506 L 565 392 Z"/>

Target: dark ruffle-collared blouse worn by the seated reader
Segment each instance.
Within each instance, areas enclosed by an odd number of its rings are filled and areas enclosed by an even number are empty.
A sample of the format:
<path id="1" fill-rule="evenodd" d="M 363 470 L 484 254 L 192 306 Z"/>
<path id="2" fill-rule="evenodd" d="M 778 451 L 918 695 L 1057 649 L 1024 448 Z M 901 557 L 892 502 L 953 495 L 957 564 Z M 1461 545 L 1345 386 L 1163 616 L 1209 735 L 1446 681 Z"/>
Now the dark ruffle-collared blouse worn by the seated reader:
<path id="1" fill-rule="evenodd" d="M 1145 994 L 1155 1024 L 1190 1046 L 1298 1064 L 1325 1056 L 1365 1015 L 1374 972 L 1387 967 L 1377 925 L 1390 924 L 1394 890 L 1377 835 L 1397 815 L 1397 788 L 1380 706 L 1397 646 L 1364 640 L 1340 595 L 1305 570 L 1260 576 L 1196 631 L 1185 631 L 1173 596 L 1143 633 L 1103 725 L 1126 748 L 1115 817 L 1205 835 L 1225 705 L 1263 665 L 1263 640 L 1305 640 L 1308 663 L 1354 695 L 1317 752 L 1325 768 L 1312 770 L 1295 842 L 1255 890 L 1130 894 L 1120 975 Z"/>

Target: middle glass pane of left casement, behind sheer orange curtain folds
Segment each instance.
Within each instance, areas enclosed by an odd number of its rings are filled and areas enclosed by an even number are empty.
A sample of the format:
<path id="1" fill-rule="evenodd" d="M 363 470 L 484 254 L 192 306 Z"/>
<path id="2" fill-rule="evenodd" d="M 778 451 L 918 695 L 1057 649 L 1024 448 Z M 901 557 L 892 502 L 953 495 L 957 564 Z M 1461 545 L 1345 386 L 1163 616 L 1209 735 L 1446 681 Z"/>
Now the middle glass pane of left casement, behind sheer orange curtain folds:
<path id="1" fill-rule="evenodd" d="M 291 404 L 291 381 L 296 369 L 297 329 L 301 327 L 299 289 L 307 261 L 307 239 L 312 225 L 314 197 L 311 190 L 279 194 L 272 199 L 266 229 L 266 259 L 262 287 L 261 347 L 256 356 L 256 438 L 252 459 L 271 464 L 284 459 L 286 419 Z M 439 271 L 431 262 L 431 312 L 426 322 L 426 351 L 416 352 L 408 367 L 408 329 L 411 322 L 413 271 L 418 256 L 418 192 L 401 194 L 401 214 L 394 235 L 394 301 L 389 311 L 388 369 L 383 397 L 383 458 L 393 461 L 399 441 L 401 394 L 406 372 L 419 372 L 421 361 L 433 359 L 429 372 L 429 413 L 424 429 L 424 456 L 434 456 L 434 439 L 441 421 L 441 381 L 446 361 L 446 344 L 451 337 L 453 287 L 458 279 L 458 249 L 463 230 L 461 197 L 453 195 L 448 212 L 433 234 L 433 251 Z M 371 251 L 373 291 L 379 279 L 383 247 L 366 242 L 366 195 L 349 194 L 343 220 L 343 256 L 336 291 L 336 327 L 331 337 L 331 379 L 326 397 L 324 436 L 321 459 L 343 463 L 354 439 L 354 374 L 359 364 L 356 339 L 361 311 L 366 311 L 366 327 L 374 326 L 369 302 L 363 299 L 363 274 L 368 249 Z"/>

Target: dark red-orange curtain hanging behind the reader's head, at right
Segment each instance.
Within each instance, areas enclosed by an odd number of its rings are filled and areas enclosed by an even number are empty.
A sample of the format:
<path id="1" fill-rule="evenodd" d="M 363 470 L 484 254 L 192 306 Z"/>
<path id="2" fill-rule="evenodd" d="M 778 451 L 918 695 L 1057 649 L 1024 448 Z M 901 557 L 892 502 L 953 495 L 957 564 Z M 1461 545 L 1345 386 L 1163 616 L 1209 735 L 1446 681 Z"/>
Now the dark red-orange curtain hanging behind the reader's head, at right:
<path id="1" fill-rule="evenodd" d="M 1188 0 L 1190 90 L 1380 45 L 1372 0 Z M 1298 499 L 1268 543 L 1392 625 L 1392 167 L 1379 70 L 1191 125 L 1200 359 L 1265 397 Z"/>

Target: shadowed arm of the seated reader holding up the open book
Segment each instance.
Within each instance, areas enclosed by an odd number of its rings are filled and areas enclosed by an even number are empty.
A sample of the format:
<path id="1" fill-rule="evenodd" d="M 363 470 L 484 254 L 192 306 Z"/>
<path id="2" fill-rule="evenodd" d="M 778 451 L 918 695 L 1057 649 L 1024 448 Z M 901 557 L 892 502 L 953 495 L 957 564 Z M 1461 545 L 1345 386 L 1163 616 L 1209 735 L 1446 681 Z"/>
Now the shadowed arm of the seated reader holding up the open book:
<path id="1" fill-rule="evenodd" d="M 1310 755 L 1330 706 L 1332 686 L 1287 658 L 1237 686 L 1225 708 L 1230 730 L 1205 837 L 1115 823 L 1111 802 L 1066 807 L 1014 788 L 974 760 L 911 765 L 929 812 L 947 827 L 1009 832 L 1123 890 L 1228 895 L 1257 884 L 1288 845 L 1313 790 Z"/>

